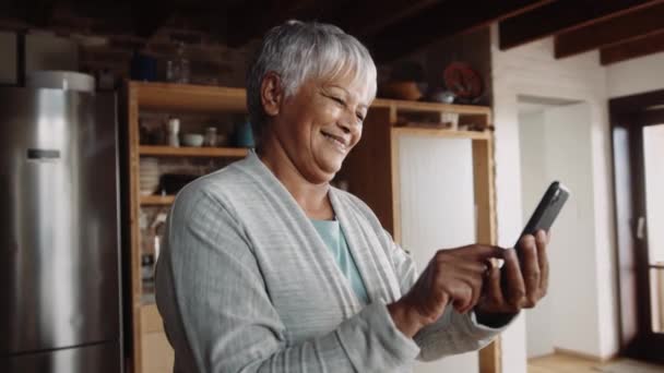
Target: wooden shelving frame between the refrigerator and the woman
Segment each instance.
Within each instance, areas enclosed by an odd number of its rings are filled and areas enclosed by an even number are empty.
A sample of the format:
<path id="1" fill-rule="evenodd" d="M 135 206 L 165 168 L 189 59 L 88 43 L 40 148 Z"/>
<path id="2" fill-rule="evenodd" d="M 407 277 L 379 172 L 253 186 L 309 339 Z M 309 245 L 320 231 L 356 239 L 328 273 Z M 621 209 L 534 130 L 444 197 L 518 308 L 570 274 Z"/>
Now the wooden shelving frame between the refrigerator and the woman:
<path id="1" fill-rule="evenodd" d="M 139 165 L 141 157 L 175 158 L 230 158 L 239 159 L 248 154 L 247 148 L 237 147 L 170 147 L 142 145 L 139 139 L 141 112 L 167 113 L 246 113 L 245 89 L 127 82 L 122 92 L 121 108 L 127 124 L 129 170 L 129 256 L 131 268 L 131 326 L 132 351 L 129 371 L 152 373 L 173 371 L 173 350 L 162 327 L 162 318 L 149 292 L 143 292 L 141 278 L 141 208 L 168 208 L 175 195 L 142 195 L 140 193 Z"/>

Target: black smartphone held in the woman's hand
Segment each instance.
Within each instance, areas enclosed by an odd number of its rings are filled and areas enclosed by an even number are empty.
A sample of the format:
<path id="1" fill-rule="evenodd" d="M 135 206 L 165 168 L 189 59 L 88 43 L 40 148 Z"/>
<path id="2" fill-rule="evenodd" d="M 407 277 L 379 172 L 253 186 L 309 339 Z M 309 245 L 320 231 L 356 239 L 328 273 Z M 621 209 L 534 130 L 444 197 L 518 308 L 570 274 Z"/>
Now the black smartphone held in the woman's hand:
<path id="1" fill-rule="evenodd" d="M 535 208 L 533 215 L 527 220 L 527 224 L 523 228 L 523 231 L 519 236 L 517 243 L 514 244 L 514 249 L 517 250 L 517 256 L 519 256 L 519 262 L 521 262 L 521 250 L 519 249 L 519 241 L 525 234 L 535 234 L 540 229 L 543 229 L 548 233 L 549 229 L 554 225 L 554 221 L 558 217 L 558 214 L 565 206 L 565 203 L 569 198 L 570 192 L 569 190 L 562 185 L 558 181 L 552 182 L 548 186 L 540 204 Z M 507 281 L 506 272 L 502 272 L 501 280 L 503 284 Z"/>

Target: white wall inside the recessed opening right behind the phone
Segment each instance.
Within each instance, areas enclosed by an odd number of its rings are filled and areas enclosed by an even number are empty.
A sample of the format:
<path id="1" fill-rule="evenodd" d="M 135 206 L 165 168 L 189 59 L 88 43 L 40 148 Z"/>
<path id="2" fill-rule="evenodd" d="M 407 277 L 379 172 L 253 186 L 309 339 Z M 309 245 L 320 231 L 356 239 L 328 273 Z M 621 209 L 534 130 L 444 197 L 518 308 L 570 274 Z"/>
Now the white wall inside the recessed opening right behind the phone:
<path id="1" fill-rule="evenodd" d="M 550 244 L 550 296 L 554 345 L 603 357 L 604 310 L 596 297 L 602 284 L 596 248 L 590 108 L 586 104 L 544 111 L 546 170 L 562 180 L 572 195 L 556 221 Z M 610 322 L 610 321 L 609 321 Z"/>

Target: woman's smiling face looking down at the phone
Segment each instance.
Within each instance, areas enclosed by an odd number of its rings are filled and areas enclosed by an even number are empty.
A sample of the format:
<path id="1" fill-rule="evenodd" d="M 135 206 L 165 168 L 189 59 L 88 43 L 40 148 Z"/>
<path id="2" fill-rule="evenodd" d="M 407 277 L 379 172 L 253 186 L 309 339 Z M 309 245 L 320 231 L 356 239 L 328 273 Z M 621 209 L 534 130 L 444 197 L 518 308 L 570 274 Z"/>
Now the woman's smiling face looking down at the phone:
<path id="1" fill-rule="evenodd" d="M 344 74 L 324 82 L 305 81 L 297 92 L 265 111 L 268 131 L 297 171 L 309 182 L 332 180 L 361 137 L 372 89 Z"/>

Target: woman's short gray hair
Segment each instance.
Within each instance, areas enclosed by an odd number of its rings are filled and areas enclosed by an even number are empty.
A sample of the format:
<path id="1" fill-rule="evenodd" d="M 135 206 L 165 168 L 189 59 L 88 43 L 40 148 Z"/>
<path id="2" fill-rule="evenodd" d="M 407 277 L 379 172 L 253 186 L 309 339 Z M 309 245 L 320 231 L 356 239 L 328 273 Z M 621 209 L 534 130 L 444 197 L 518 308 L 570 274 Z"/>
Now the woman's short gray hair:
<path id="1" fill-rule="evenodd" d="M 351 73 L 376 95 L 376 65 L 367 48 L 341 28 L 317 22 L 287 21 L 270 29 L 247 74 L 247 108 L 254 141 L 265 125 L 261 84 L 268 72 L 280 75 L 286 97 L 307 79 L 334 79 Z"/>

